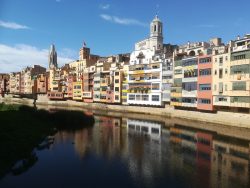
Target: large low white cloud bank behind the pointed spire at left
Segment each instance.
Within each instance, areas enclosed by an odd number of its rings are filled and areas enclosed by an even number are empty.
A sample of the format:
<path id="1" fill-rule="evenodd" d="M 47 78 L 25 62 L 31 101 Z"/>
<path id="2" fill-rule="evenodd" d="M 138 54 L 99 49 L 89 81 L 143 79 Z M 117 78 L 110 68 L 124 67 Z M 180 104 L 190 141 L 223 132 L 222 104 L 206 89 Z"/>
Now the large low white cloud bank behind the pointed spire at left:
<path id="1" fill-rule="evenodd" d="M 8 46 L 0 44 L 0 73 L 21 71 L 23 68 L 32 65 L 48 67 L 48 49 L 38 49 L 26 44 Z M 72 58 L 59 55 L 57 61 L 59 66 L 73 61 Z"/>

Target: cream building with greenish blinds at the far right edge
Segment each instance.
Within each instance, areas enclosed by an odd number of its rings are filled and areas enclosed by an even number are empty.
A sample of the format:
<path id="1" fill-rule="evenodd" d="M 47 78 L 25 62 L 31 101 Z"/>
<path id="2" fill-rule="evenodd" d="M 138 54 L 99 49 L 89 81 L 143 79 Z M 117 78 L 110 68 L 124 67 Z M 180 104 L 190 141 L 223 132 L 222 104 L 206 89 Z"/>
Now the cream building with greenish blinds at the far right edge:
<path id="1" fill-rule="evenodd" d="M 231 42 L 230 107 L 250 112 L 250 35 Z"/>

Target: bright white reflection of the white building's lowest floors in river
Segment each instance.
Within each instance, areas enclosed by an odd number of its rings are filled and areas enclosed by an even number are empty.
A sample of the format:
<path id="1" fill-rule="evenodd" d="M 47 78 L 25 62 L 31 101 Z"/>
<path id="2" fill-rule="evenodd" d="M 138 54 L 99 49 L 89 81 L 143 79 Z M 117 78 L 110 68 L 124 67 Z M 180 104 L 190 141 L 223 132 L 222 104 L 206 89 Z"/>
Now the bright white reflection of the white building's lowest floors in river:
<path id="1" fill-rule="evenodd" d="M 155 140 L 160 140 L 161 138 L 160 123 L 128 119 L 127 129 L 129 133 L 146 134 Z"/>

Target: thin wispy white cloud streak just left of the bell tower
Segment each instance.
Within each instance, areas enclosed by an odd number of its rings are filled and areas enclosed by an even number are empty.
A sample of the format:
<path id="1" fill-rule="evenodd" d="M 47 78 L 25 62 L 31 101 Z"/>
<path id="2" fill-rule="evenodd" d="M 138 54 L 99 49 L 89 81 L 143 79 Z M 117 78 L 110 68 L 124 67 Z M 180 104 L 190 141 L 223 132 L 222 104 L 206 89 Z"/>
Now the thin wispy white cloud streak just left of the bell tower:
<path id="1" fill-rule="evenodd" d="M 106 21 L 121 24 L 121 25 L 137 25 L 137 26 L 143 26 L 147 27 L 147 23 L 143 23 L 139 20 L 136 19 L 131 19 L 131 18 L 119 18 L 117 16 L 110 16 L 107 14 L 101 14 L 100 17 Z"/>

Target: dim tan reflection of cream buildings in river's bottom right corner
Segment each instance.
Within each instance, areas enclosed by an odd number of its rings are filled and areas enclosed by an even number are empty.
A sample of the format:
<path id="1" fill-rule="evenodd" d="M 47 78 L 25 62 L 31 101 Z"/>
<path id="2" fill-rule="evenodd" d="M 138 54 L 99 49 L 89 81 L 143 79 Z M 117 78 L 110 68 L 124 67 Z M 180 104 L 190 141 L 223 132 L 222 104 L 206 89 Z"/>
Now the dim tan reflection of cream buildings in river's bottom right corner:
<path id="1" fill-rule="evenodd" d="M 216 187 L 249 187 L 249 148 L 213 141 L 211 183 Z M 239 186 L 240 185 L 240 186 Z"/>

